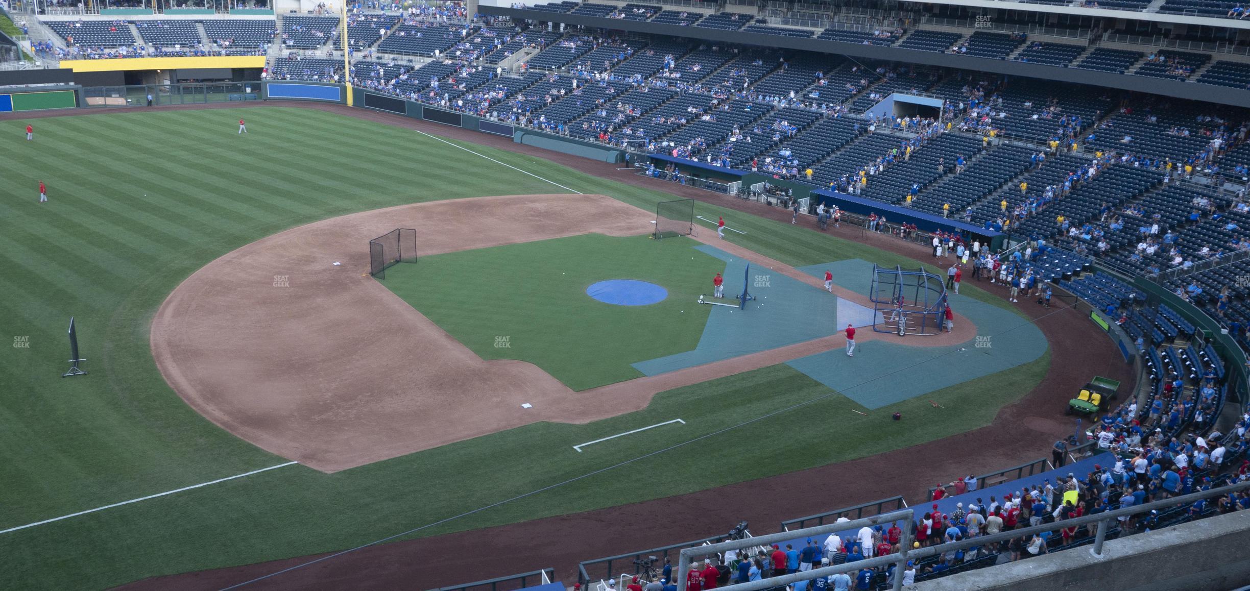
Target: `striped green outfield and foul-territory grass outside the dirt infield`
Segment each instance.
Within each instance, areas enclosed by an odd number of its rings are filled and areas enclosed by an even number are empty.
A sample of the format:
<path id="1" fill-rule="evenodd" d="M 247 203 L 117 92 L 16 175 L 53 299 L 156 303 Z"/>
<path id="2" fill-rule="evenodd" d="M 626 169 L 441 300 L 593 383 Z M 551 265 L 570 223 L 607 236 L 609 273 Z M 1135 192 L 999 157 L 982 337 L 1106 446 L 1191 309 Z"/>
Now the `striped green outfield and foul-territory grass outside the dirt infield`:
<path id="1" fill-rule="evenodd" d="M 246 136 L 236 121 L 249 121 Z M 22 121 L 10 121 L 15 129 Z M 259 450 L 191 411 L 156 371 L 149 322 L 188 275 L 280 230 L 354 211 L 438 199 L 562 192 L 409 130 L 321 111 L 112 112 L 41 119 L 34 142 L 0 139 L 0 334 L 30 347 L 0 354 L 0 530 L 272 466 Z M 671 195 L 581 174 L 545 160 L 474 150 L 582 192 L 652 209 Z M 328 165 L 350 154 L 352 165 Z M 414 162 L 425 165 L 414 166 Z M 429 165 L 436 162 L 436 165 Z M 38 181 L 50 204 L 38 204 Z M 698 204 L 749 234 L 734 241 L 789 265 L 859 257 L 914 264 L 820 232 Z M 1010 307 L 965 285 L 964 292 Z M 79 321 L 88 376 L 61 379 L 65 327 Z M 228 345 L 228 344 L 226 344 Z M 522 502 L 422 534 L 481 527 L 689 492 L 919 444 L 988 424 L 1045 374 L 1049 356 L 935 392 L 956 412 L 912 429 L 871 429 L 832 395 L 722 435 Z M 766 390 L 770 396 L 760 396 Z M 1002 392 L 1012 392 L 1004 396 Z M 284 467 L 211 487 L 0 534 L 0 589 L 106 587 L 189 570 L 336 550 L 459 515 L 642 452 L 824 396 L 775 366 L 689 386 L 644 411 L 589 425 L 540 424 L 335 475 Z M 708 404 L 698 404 L 702 399 Z M 714 402 L 714 404 L 712 404 Z M 959 404 L 968 402 L 968 404 Z M 934 412 L 909 401 L 911 412 Z M 889 409 L 895 410 L 895 409 Z M 574 454 L 574 444 L 680 416 L 682 427 Z M 798 437 L 836 419 L 874 434 L 812 454 Z M 884 427 L 884 424 L 882 424 Z M 726 470 L 694 470 L 742 441 Z M 879 437 L 879 439 L 878 439 Z M 690 470 L 685 470 L 689 467 Z M 660 479 L 658 474 L 682 474 Z M 421 475 L 414 481 L 412 475 Z M 592 494 L 591 494 L 592 492 Z M 834 509 L 834 507 L 830 507 Z"/>

